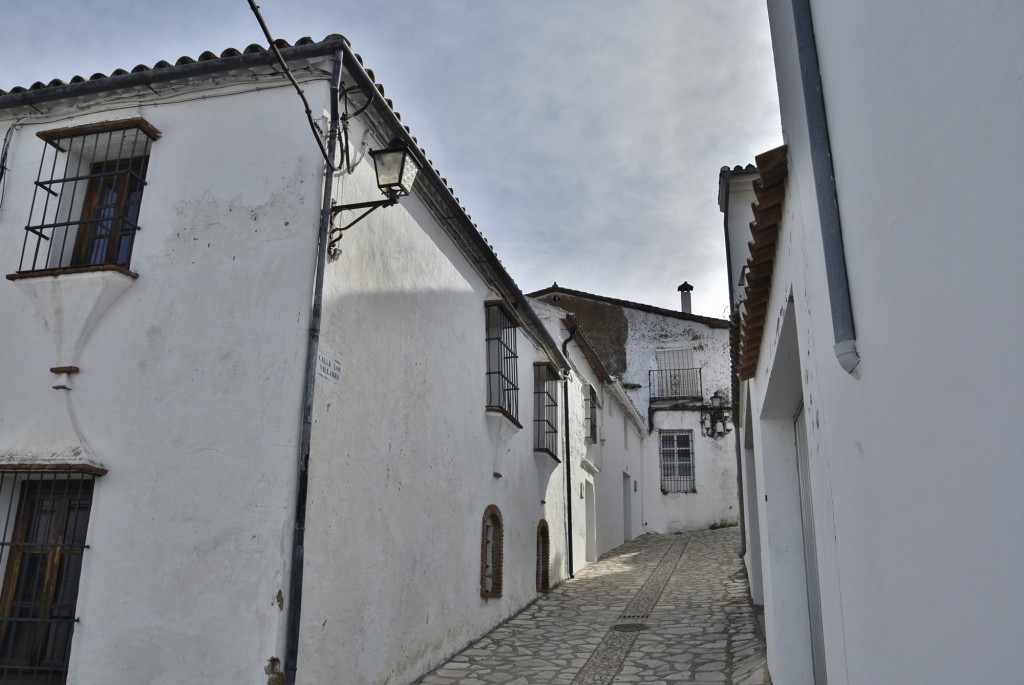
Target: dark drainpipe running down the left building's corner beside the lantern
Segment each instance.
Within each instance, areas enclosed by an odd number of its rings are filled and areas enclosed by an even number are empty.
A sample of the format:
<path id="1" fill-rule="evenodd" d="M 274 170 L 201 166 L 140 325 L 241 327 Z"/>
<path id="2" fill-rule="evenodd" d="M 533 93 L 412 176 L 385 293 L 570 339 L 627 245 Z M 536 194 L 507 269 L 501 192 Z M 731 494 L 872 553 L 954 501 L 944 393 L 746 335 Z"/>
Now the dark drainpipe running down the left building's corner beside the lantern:
<path id="1" fill-rule="evenodd" d="M 309 445 L 312 441 L 313 389 L 316 382 L 316 354 L 319 349 L 319 326 L 324 302 L 324 269 L 331 231 L 331 199 L 334 196 L 335 148 L 340 117 L 338 98 L 341 86 L 342 51 L 334 53 L 331 73 L 331 129 L 328 133 L 328 159 L 325 168 L 324 201 L 316 244 L 316 276 L 313 285 L 312 311 L 309 317 L 309 344 L 306 347 L 306 387 L 302 395 L 302 431 L 299 437 L 299 479 L 295 495 L 295 529 L 292 532 L 292 568 L 288 581 L 288 626 L 285 638 L 285 683 L 295 685 L 299 658 L 299 626 L 302 617 L 302 571 L 305 557 L 306 490 L 309 483 Z"/>

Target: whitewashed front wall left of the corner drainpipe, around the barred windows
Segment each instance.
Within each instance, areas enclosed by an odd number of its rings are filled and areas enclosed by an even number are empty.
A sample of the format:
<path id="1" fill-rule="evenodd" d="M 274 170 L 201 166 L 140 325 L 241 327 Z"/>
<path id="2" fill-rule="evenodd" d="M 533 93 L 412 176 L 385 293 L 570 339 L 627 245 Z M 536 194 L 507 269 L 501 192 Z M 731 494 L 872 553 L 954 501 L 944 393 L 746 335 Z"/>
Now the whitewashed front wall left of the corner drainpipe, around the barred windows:
<path id="1" fill-rule="evenodd" d="M 287 594 L 319 155 L 287 89 L 29 117 L 0 208 L 5 273 L 29 217 L 36 132 L 133 116 L 163 133 L 132 257 L 139 276 L 0 281 L 0 449 L 52 451 L 65 391 L 48 370 L 70 363 L 55 353 L 60 322 L 99 281 L 124 280 L 81 342 L 68 392 L 74 439 L 110 471 L 95 485 L 69 682 L 265 682 L 284 649 L 276 597 Z M 26 290 L 44 282 L 63 299 L 39 296 L 42 311 Z"/>

